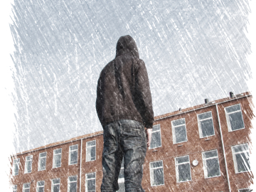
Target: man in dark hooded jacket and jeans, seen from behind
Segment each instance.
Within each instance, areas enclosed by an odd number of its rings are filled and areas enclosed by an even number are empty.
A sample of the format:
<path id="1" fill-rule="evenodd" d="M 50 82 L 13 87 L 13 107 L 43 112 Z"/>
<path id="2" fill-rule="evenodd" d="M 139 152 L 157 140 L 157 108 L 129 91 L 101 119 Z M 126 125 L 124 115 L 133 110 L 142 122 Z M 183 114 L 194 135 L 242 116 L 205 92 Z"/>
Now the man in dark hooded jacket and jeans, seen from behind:
<path id="1" fill-rule="evenodd" d="M 101 191 L 119 190 L 123 157 L 125 191 L 144 191 L 142 165 L 154 112 L 146 66 L 131 36 L 119 38 L 116 57 L 100 73 L 96 110 L 104 130 Z"/>

